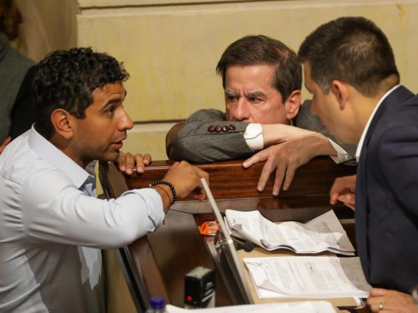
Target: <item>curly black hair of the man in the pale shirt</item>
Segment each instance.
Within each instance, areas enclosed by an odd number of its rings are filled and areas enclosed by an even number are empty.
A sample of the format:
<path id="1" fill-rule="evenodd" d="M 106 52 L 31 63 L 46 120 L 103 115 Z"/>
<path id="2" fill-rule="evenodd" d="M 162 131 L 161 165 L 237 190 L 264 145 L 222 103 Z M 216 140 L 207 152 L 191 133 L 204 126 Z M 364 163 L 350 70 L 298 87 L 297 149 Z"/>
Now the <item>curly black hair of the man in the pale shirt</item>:
<path id="1" fill-rule="evenodd" d="M 65 109 L 76 118 L 85 118 L 93 103 L 91 93 L 107 83 L 126 81 L 123 63 L 91 48 L 52 51 L 38 64 L 33 81 L 36 101 L 36 130 L 49 138 L 54 134 L 51 114 Z"/>

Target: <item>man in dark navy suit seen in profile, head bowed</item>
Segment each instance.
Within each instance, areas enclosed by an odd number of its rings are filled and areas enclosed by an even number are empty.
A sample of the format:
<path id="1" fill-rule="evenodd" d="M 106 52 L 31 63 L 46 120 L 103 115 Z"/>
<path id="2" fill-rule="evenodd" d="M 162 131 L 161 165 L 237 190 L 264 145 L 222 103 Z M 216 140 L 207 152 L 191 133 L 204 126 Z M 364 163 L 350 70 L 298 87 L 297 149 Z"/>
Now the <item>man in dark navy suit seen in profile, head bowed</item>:
<path id="1" fill-rule="evenodd" d="M 313 113 L 339 140 L 359 141 L 357 176 L 336 179 L 330 195 L 355 207 L 371 310 L 418 312 L 418 97 L 398 85 L 392 47 L 368 19 L 323 24 L 299 57 Z"/>

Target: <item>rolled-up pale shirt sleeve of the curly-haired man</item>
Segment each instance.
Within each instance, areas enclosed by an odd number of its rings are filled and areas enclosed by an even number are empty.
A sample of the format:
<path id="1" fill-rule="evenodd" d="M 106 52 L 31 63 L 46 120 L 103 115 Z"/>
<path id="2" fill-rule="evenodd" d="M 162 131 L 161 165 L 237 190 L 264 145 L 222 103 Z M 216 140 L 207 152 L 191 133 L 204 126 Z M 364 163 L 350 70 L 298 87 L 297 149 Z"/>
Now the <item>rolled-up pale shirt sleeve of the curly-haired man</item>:
<path id="1" fill-rule="evenodd" d="M 23 188 L 23 228 L 32 241 L 116 248 L 153 232 L 164 219 L 162 199 L 152 188 L 101 200 L 59 170 L 41 170 Z"/>

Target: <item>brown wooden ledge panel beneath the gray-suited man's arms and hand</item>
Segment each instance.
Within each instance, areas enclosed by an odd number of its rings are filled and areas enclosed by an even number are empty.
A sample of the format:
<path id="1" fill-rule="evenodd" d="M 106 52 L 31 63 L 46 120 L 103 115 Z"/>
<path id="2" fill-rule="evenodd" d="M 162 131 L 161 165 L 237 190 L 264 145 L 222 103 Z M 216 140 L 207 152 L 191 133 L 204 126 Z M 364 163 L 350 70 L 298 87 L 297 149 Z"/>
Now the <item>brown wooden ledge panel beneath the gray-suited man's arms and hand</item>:
<path id="1" fill-rule="evenodd" d="M 251 168 L 242 168 L 244 160 L 196 164 L 210 175 L 210 189 L 215 199 L 271 197 L 274 175 L 270 177 L 264 191 L 256 190 L 263 163 Z M 162 179 L 173 165 L 173 161 L 153 161 L 145 168 L 143 175 L 125 176 L 128 188 L 143 188 L 150 182 Z M 353 175 L 355 166 L 337 165 L 329 157 L 316 157 L 296 170 L 293 183 L 288 191 L 281 191 L 277 198 L 328 195 L 335 177 Z M 186 200 L 192 200 L 187 198 Z"/>

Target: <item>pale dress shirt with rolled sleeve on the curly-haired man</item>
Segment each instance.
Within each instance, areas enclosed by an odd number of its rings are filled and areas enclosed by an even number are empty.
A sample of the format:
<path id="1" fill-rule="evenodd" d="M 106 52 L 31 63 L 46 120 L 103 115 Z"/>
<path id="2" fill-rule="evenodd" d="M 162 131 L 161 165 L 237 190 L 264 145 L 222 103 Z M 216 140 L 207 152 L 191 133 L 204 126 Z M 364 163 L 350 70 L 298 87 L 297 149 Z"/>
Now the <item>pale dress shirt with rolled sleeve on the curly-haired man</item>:
<path id="1" fill-rule="evenodd" d="M 105 312 L 100 249 L 162 223 L 157 191 L 100 200 L 87 170 L 33 127 L 0 155 L 0 312 Z"/>

